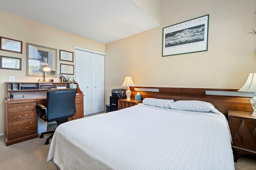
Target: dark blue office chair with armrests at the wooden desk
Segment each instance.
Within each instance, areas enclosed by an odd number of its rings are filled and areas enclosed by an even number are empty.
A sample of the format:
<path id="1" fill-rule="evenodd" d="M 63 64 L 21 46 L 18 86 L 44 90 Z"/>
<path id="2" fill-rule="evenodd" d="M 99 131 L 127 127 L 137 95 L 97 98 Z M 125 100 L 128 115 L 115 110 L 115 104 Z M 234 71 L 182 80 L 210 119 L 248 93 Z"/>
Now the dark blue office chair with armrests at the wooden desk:
<path id="1" fill-rule="evenodd" d="M 76 114 L 75 98 L 76 89 L 50 90 L 47 92 L 46 106 L 36 105 L 36 111 L 44 121 L 56 121 L 58 127 L 61 123 L 67 122 L 69 117 Z M 47 138 L 45 145 L 49 144 L 54 131 L 43 132 L 40 135 L 40 138 L 43 138 L 44 134 L 49 133 L 52 133 L 52 135 Z"/>

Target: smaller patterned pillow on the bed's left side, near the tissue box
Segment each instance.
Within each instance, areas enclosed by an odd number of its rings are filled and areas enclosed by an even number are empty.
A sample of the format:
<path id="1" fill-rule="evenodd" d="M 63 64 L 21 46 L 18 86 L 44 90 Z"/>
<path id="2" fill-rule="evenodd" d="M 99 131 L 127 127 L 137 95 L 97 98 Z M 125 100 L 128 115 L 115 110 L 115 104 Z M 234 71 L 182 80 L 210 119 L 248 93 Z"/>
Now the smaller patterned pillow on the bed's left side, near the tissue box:
<path id="1" fill-rule="evenodd" d="M 170 108 L 170 105 L 174 103 L 174 100 L 145 98 L 143 99 L 142 103 L 149 106 Z"/>

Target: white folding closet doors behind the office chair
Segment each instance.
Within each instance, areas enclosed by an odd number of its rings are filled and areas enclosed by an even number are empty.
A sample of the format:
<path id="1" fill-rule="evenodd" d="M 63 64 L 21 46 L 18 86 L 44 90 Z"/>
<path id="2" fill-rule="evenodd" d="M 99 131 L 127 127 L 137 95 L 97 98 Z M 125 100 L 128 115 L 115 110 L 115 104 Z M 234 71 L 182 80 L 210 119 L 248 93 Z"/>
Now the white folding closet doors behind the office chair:
<path id="1" fill-rule="evenodd" d="M 84 115 L 104 111 L 104 55 L 77 49 L 76 81 L 84 93 Z"/>

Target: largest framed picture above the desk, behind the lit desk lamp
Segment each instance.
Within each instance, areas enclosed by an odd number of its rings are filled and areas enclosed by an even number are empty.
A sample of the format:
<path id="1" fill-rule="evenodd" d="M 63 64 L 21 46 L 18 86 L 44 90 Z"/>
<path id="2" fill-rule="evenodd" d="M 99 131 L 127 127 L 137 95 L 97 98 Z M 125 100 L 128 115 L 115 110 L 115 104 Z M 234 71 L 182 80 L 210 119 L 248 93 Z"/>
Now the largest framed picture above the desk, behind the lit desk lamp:
<path id="1" fill-rule="evenodd" d="M 26 76 L 42 77 L 42 68 L 46 65 L 51 68 L 45 72 L 46 77 L 57 77 L 57 49 L 26 43 L 27 68 Z"/>

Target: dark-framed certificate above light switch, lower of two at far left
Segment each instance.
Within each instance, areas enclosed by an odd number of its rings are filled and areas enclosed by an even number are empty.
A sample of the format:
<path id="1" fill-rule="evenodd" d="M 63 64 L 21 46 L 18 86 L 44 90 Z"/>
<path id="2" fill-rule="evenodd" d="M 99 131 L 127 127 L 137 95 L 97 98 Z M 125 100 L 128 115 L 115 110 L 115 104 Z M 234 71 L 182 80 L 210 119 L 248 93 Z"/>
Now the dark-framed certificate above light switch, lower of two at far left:
<path id="1" fill-rule="evenodd" d="M 0 68 L 9 70 L 21 70 L 21 59 L 0 55 Z"/>

